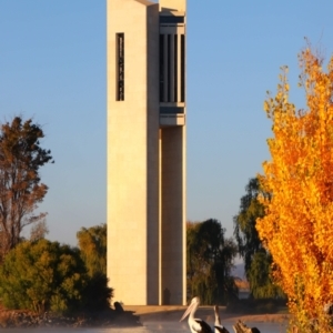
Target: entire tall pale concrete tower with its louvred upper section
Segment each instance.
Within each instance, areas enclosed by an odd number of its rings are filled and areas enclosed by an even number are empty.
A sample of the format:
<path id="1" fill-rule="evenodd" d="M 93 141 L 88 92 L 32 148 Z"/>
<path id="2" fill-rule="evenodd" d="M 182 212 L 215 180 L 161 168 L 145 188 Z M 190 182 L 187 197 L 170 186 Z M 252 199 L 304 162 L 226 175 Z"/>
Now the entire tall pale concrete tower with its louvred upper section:
<path id="1" fill-rule="evenodd" d="M 108 278 L 185 304 L 185 0 L 107 0 Z"/>

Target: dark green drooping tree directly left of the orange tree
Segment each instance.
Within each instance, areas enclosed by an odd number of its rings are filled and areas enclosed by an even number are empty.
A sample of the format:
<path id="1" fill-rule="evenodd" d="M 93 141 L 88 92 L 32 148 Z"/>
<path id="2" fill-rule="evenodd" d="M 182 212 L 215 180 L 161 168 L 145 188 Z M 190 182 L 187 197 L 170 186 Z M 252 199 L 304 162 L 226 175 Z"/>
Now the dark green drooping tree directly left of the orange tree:
<path id="1" fill-rule="evenodd" d="M 241 198 L 240 212 L 233 218 L 233 223 L 234 236 L 239 253 L 244 259 L 251 294 L 255 299 L 282 296 L 281 289 L 274 285 L 271 279 L 272 256 L 264 249 L 255 229 L 256 219 L 265 214 L 258 195 L 270 198 L 270 194 L 261 189 L 258 178 L 249 180 L 245 191 L 246 194 Z"/>

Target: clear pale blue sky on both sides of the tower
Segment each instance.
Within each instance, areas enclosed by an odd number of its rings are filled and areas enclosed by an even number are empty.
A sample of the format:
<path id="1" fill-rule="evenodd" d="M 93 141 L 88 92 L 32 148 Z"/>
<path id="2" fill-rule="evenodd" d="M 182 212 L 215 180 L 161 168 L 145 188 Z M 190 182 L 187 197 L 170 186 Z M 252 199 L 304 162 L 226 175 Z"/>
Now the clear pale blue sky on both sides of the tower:
<path id="1" fill-rule="evenodd" d="M 188 219 L 232 216 L 248 180 L 269 159 L 271 123 L 262 109 L 279 68 L 296 88 L 307 37 L 333 52 L 332 0 L 188 0 Z M 49 239 L 105 222 L 105 0 L 0 0 L 0 121 L 16 114 L 43 125 L 56 164 Z"/>

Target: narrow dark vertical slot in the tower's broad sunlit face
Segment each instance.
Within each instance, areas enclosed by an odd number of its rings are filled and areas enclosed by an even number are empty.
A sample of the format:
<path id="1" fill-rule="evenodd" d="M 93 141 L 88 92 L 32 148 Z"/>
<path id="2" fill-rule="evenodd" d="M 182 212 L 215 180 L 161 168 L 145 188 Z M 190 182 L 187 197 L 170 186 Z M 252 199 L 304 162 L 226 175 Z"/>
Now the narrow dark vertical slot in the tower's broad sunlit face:
<path id="1" fill-rule="evenodd" d="M 115 34 L 117 91 L 115 100 L 124 100 L 124 34 Z"/>

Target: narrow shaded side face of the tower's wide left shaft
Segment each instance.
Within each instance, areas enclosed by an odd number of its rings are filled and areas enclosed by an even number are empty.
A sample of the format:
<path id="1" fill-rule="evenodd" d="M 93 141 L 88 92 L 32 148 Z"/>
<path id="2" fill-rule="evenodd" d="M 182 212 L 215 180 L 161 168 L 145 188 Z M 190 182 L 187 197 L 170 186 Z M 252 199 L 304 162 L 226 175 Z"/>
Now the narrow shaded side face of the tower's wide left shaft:
<path id="1" fill-rule="evenodd" d="M 160 304 L 159 224 L 159 7 L 148 7 L 148 304 Z"/>

